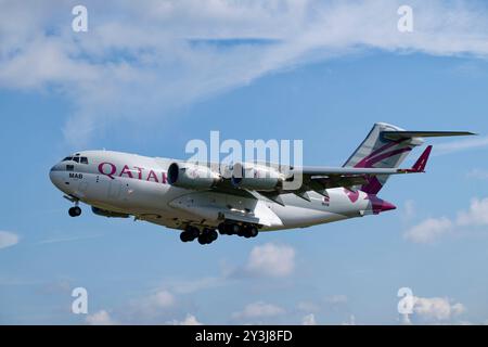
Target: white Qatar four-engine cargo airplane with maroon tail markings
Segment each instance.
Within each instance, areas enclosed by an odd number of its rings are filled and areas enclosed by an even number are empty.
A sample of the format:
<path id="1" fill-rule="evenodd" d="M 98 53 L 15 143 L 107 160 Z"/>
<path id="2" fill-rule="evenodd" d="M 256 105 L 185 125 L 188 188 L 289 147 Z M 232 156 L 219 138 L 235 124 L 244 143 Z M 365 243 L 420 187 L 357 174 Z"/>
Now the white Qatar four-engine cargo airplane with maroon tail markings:
<path id="1" fill-rule="evenodd" d="M 467 131 L 406 131 L 376 123 L 342 167 L 293 167 L 236 163 L 229 172 L 209 164 L 113 151 L 84 151 L 50 170 L 72 204 L 95 215 L 144 220 L 181 231 L 182 242 L 210 244 L 220 235 L 307 228 L 395 209 L 378 193 L 393 175 L 425 172 L 432 145 L 411 168 L 399 168 L 423 138 L 472 136 Z M 218 167 L 219 168 L 219 167 Z M 251 175 L 242 175 L 243 172 Z M 301 175 L 301 183 L 286 190 Z"/>

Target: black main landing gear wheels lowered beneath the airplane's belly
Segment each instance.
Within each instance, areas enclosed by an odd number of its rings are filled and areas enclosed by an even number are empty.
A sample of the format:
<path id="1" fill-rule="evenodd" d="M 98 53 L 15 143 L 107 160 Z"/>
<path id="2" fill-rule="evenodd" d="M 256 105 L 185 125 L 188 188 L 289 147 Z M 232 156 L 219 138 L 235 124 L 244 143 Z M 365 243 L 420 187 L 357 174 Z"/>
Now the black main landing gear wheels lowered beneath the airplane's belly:
<path id="1" fill-rule="evenodd" d="M 246 239 L 256 237 L 259 233 L 258 228 L 254 224 L 237 224 L 234 222 L 222 222 L 219 224 L 218 230 L 221 235 L 237 235 Z M 218 233 L 214 229 L 204 228 L 201 231 L 192 226 L 188 226 L 180 234 L 182 242 L 191 242 L 196 239 L 201 245 L 210 244 L 217 237 Z"/>

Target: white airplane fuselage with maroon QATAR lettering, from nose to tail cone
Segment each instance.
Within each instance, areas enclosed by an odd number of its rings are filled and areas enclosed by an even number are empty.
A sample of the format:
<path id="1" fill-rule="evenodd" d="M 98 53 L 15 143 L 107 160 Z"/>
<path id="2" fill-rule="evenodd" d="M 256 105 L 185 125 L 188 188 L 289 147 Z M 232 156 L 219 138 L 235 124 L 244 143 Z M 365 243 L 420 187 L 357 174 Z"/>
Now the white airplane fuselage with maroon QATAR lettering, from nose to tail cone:
<path id="1" fill-rule="evenodd" d="M 253 222 L 261 230 L 281 230 L 394 208 L 385 208 L 391 205 L 374 195 L 344 188 L 328 190 L 324 195 L 310 191 L 309 200 L 282 194 L 280 203 L 239 189 L 177 188 L 168 183 L 167 170 L 178 160 L 169 158 L 112 151 L 85 151 L 69 158 L 50 171 L 53 184 L 66 195 L 99 209 L 175 229 L 188 224 L 216 228 L 223 219 L 230 219 Z"/>

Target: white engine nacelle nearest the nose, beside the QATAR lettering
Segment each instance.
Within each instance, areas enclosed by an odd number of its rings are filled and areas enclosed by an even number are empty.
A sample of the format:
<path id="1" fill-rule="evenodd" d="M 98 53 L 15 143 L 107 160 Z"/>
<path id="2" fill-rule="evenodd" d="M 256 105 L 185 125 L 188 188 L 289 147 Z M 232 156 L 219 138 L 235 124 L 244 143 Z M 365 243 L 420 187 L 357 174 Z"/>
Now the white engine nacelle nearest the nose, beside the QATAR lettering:
<path id="1" fill-rule="evenodd" d="M 168 167 L 168 182 L 188 189 L 209 189 L 222 180 L 209 167 L 189 163 L 172 163 Z"/>

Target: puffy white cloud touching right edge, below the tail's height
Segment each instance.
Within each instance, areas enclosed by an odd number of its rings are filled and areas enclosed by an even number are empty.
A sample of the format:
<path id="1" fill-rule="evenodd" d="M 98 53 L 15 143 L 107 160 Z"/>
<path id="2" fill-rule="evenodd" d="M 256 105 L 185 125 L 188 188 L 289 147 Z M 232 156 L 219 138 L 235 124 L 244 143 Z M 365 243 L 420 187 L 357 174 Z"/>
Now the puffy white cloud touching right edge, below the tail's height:
<path id="1" fill-rule="evenodd" d="M 432 243 L 461 228 L 488 226 L 488 197 L 473 198 L 467 210 L 458 213 L 455 219 L 428 218 L 410 228 L 403 236 L 415 243 Z"/>

